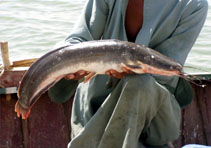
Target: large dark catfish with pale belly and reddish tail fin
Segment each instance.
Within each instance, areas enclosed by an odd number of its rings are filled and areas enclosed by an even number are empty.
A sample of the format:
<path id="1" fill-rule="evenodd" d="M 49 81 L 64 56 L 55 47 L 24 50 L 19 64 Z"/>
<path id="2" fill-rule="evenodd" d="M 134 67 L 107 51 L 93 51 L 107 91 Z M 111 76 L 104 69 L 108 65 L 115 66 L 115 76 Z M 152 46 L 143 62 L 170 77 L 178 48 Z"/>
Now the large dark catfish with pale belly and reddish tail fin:
<path id="1" fill-rule="evenodd" d="M 180 75 L 182 66 L 170 58 L 135 43 L 119 40 L 88 41 L 53 50 L 39 58 L 20 82 L 15 111 L 28 118 L 39 97 L 61 78 L 80 70 L 96 74 L 109 70 L 164 76 Z"/>

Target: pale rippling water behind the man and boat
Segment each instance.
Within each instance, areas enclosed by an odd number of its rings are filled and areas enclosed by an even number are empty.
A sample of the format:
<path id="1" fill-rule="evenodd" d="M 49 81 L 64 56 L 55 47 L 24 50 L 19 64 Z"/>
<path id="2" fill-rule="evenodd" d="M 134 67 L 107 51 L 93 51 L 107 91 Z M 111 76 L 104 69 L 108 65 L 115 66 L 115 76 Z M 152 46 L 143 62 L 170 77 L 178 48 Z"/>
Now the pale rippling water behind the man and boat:
<path id="1" fill-rule="evenodd" d="M 85 0 L 1 0 L 0 41 L 8 41 L 11 60 L 50 51 L 70 33 L 84 4 Z M 186 68 L 187 72 L 211 72 L 211 4 L 186 65 L 195 68 Z"/>

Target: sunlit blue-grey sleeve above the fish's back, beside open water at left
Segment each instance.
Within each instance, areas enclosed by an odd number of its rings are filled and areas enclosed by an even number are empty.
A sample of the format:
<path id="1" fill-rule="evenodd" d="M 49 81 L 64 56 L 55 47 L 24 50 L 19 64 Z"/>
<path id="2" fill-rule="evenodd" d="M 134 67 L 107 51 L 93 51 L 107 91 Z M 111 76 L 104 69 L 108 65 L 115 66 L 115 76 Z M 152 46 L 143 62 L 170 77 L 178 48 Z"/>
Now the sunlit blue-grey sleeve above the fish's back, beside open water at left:
<path id="1" fill-rule="evenodd" d="M 78 23 L 66 41 L 74 44 L 101 39 L 107 14 L 108 6 L 105 0 L 88 0 Z"/>

